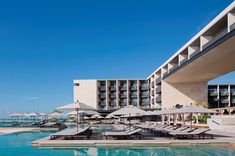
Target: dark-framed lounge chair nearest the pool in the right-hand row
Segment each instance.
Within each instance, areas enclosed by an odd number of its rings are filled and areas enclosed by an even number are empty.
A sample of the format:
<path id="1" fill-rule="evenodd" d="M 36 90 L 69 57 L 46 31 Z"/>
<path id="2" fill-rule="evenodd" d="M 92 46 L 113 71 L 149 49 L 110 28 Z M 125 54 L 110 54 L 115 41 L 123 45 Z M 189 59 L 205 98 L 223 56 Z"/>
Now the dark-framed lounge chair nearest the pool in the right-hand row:
<path id="1" fill-rule="evenodd" d="M 176 138 L 194 138 L 195 136 L 198 136 L 199 139 L 202 136 L 204 139 L 206 132 L 210 131 L 209 128 L 194 128 L 192 130 L 191 129 L 188 131 L 186 131 L 186 130 L 180 131 L 180 132 L 170 132 L 169 135 L 173 136 L 175 139 Z M 213 138 L 213 136 L 212 136 L 212 138 Z"/>

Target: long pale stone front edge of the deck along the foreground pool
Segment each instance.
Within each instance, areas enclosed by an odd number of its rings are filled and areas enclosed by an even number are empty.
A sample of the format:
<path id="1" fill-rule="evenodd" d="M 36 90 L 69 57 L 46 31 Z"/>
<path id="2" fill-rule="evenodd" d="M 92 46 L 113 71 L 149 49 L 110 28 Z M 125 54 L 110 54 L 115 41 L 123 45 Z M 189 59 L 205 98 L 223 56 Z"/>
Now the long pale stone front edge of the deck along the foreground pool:
<path id="1" fill-rule="evenodd" d="M 225 146 L 235 147 L 235 137 L 214 137 L 214 139 L 173 140 L 154 137 L 150 140 L 50 140 L 45 137 L 32 142 L 34 147 L 74 148 L 74 147 L 156 147 L 156 146 Z"/>

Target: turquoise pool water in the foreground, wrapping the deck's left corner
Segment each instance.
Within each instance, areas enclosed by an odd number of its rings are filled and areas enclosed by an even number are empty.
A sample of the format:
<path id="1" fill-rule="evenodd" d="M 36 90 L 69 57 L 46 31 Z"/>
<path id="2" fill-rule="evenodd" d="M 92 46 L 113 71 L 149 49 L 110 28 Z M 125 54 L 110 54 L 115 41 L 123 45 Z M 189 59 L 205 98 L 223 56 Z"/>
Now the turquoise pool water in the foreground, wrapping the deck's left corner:
<path id="1" fill-rule="evenodd" d="M 31 141 L 52 132 L 25 132 L 0 135 L 0 156 L 234 156 L 235 150 L 214 147 L 139 148 L 32 148 Z"/>

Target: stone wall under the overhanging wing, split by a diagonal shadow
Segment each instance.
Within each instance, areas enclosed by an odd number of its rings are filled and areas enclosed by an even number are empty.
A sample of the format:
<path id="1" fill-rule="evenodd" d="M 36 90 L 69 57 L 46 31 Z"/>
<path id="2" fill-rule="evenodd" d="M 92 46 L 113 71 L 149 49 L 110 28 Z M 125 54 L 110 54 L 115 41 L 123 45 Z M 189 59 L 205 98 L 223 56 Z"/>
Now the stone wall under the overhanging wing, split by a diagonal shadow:
<path id="1" fill-rule="evenodd" d="M 207 82 L 173 84 L 162 80 L 162 108 L 172 108 L 176 104 L 207 103 L 207 95 Z"/>

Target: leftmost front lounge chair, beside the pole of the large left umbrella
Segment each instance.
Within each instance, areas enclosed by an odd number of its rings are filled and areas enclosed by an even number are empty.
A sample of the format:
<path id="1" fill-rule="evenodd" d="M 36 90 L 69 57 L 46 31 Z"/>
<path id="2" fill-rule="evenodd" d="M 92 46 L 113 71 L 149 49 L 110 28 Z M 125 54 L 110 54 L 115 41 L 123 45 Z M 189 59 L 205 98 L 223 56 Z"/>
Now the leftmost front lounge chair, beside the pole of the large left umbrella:
<path id="1" fill-rule="evenodd" d="M 85 138 L 89 140 L 91 135 L 92 135 L 92 130 L 90 129 L 90 127 L 86 127 L 86 128 L 79 128 L 79 129 L 77 128 L 66 129 L 66 130 L 52 134 L 50 138 L 52 140 L 55 140 L 58 138 L 64 139 L 64 140 Z"/>

